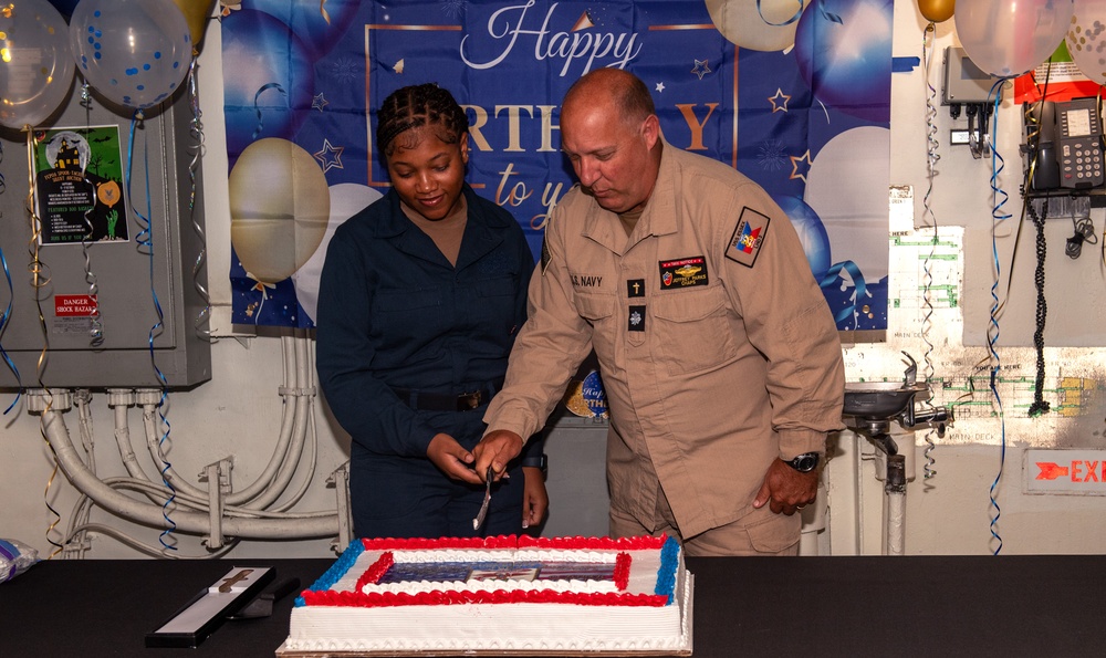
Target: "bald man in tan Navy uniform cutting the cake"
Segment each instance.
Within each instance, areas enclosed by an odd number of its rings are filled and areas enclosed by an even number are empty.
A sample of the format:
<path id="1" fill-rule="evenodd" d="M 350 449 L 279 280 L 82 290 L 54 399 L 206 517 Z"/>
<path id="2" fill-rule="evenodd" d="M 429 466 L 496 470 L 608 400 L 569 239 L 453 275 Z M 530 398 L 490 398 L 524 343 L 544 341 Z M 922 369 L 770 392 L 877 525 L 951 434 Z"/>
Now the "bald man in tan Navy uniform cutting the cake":
<path id="1" fill-rule="evenodd" d="M 617 69 L 565 95 L 580 186 L 557 203 L 476 469 L 500 473 L 594 348 L 611 410 L 611 534 L 689 555 L 796 554 L 844 368 L 787 216 L 722 163 L 667 144 Z"/>

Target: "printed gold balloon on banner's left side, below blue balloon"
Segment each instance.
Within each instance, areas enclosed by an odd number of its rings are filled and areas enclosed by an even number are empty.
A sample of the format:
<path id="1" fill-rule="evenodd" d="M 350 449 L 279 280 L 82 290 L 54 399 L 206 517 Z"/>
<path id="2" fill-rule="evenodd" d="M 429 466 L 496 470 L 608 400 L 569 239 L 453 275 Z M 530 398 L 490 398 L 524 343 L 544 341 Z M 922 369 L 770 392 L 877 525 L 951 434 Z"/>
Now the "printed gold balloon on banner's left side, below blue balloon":
<path id="1" fill-rule="evenodd" d="M 230 243 L 257 281 L 291 276 L 326 233 L 331 191 L 319 163 L 276 137 L 246 147 L 230 170 Z"/>

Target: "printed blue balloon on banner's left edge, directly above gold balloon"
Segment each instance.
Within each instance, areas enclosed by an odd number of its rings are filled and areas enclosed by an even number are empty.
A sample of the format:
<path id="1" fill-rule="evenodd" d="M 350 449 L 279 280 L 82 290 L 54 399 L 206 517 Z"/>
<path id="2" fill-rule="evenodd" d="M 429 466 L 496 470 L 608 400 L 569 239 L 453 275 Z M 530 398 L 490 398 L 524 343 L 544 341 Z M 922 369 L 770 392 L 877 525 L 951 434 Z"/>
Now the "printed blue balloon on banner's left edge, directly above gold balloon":
<path id="1" fill-rule="evenodd" d="M 258 139 L 292 140 L 311 112 L 315 72 L 307 49 L 268 13 L 243 9 L 222 20 L 222 77 L 232 166 Z"/>

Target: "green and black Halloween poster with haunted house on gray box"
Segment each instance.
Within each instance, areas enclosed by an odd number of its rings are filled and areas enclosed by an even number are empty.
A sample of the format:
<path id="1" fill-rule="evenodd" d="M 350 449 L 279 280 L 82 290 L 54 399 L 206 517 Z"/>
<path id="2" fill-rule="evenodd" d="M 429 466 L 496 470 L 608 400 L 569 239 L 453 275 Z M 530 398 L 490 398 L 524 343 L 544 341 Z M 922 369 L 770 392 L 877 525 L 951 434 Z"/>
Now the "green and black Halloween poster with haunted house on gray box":
<path id="1" fill-rule="evenodd" d="M 40 246 L 129 240 L 118 126 L 35 130 L 34 173 Z"/>

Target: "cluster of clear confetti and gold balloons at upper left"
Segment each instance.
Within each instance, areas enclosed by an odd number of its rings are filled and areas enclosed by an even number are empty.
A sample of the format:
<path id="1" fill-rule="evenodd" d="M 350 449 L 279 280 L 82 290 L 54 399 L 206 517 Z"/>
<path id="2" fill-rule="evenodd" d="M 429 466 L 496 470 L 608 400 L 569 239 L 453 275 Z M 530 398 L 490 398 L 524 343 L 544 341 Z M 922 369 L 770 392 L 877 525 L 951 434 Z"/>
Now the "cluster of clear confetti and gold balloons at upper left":
<path id="1" fill-rule="evenodd" d="M 69 98 L 74 70 L 114 105 L 138 112 L 161 103 L 181 86 L 213 7 L 215 0 L 3 0 L 0 125 L 44 122 Z"/>

